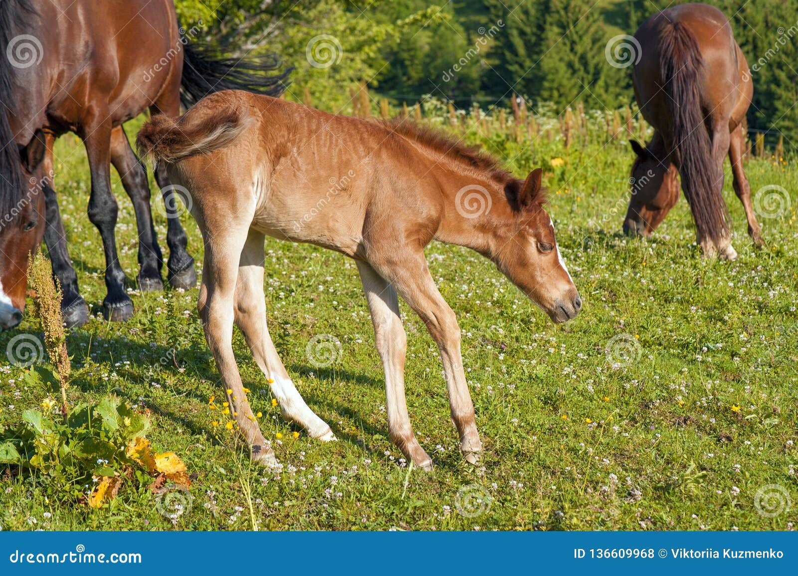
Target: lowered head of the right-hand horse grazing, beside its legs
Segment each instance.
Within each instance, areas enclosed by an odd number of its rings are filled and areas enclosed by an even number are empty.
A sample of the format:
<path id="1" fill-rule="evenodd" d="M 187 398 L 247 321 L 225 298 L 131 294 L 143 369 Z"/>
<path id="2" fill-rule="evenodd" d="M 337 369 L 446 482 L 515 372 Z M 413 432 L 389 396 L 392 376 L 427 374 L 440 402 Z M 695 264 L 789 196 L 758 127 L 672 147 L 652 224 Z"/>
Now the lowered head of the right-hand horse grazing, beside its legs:
<path id="1" fill-rule="evenodd" d="M 648 236 L 679 199 L 679 173 L 669 160 L 659 160 L 636 140 L 630 144 L 637 158 L 629 179 L 632 194 L 623 220 L 623 233 Z"/>

